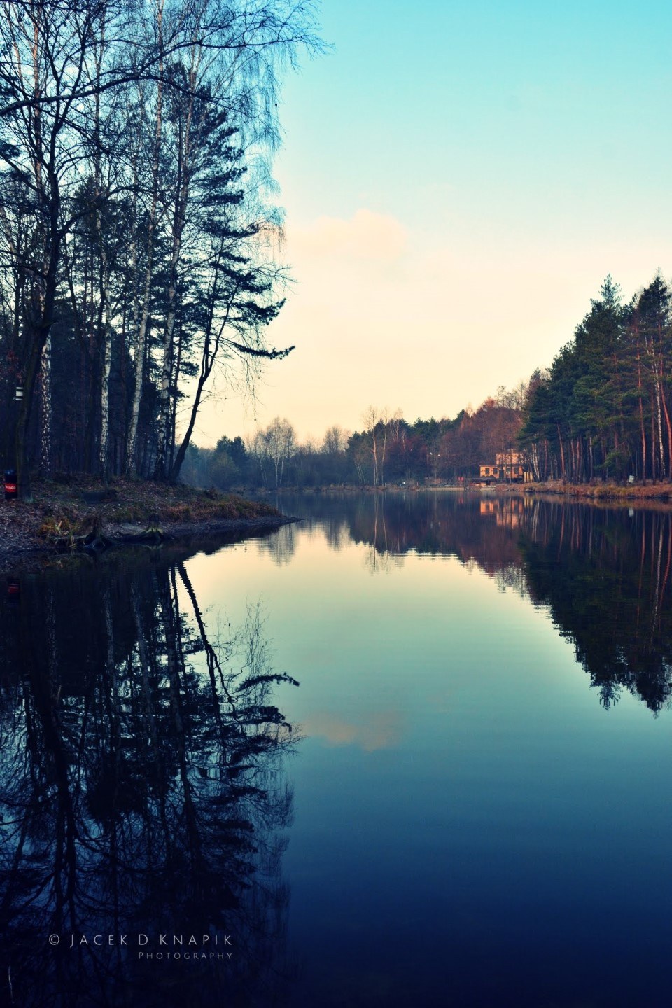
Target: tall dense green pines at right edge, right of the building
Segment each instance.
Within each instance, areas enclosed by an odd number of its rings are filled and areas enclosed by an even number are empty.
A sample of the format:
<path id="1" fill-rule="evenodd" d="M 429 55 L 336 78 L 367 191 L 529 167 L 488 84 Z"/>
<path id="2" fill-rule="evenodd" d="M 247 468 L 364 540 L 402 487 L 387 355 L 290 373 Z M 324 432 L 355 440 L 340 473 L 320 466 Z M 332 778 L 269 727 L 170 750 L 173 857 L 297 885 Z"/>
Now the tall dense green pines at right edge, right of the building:
<path id="1" fill-rule="evenodd" d="M 628 303 L 607 278 L 573 340 L 530 383 L 521 444 L 535 479 L 672 477 L 671 302 L 660 274 Z"/>

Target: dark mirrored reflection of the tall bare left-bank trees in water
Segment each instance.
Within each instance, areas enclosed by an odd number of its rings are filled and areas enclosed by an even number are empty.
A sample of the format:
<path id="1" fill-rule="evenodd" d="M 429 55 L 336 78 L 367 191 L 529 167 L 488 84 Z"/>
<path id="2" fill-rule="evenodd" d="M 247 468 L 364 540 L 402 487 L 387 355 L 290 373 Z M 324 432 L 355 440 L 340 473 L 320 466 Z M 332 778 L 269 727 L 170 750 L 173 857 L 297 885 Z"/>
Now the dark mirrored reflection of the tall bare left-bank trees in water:
<path id="1" fill-rule="evenodd" d="M 282 1002 L 292 736 L 271 690 L 294 680 L 270 667 L 259 609 L 211 639 L 182 562 L 115 561 L 24 577 L 0 621 L 5 1000 Z M 154 957 L 160 933 L 232 956 L 142 961 L 138 933 Z"/>

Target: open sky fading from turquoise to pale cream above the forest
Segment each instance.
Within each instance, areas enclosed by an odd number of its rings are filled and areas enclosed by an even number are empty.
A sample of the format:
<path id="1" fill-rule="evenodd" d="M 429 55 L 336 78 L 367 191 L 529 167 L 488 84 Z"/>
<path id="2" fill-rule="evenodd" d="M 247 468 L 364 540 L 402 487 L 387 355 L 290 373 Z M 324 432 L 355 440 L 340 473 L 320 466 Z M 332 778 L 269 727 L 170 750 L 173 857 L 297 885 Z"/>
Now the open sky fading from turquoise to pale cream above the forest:
<path id="1" fill-rule="evenodd" d="M 548 367 L 611 273 L 672 272 L 672 5 L 322 0 L 284 81 L 292 288 L 255 403 L 219 382 L 193 440 L 300 440 L 477 408 Z"/>

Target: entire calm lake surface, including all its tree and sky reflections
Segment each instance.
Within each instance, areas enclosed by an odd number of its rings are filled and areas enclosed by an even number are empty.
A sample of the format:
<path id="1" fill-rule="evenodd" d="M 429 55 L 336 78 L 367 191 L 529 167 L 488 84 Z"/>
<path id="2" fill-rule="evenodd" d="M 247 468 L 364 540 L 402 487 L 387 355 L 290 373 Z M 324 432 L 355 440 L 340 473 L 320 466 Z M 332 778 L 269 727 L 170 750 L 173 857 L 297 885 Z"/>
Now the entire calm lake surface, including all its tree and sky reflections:
<path id="1" fill-rule="evenodd" d="M 672 517 L 282 503 L 7 581 L 4 1000 L 669 1005 Z"/>

